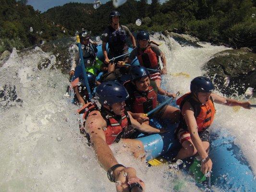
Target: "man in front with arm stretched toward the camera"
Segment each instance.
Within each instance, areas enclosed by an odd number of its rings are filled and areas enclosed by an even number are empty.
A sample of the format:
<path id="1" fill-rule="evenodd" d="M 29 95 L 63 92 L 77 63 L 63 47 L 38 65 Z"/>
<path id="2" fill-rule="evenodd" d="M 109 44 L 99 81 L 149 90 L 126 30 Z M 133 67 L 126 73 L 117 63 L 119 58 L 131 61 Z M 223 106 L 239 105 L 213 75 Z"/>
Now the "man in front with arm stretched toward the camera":
<path id="1" fill-rule="evenodd" d="M 96 89 L 96 99 L 101 104 L 100 110 L 88 105 L 85 110 L 85 132 L 96 153 L 102 168 L 107 171 L 111 182 L 120 181 L 116 185 L 117 192 L 128 192 L 129 186 L 138 184 L 145 188 L 142 180 L 137 178 L 134 168 L 120 165 L 114 157 L 110 145 L 125 144 L 125 149 L 131 151 L 134 157 L 144 156 L 144 146 L 134 139 L 135 130 L 146 133 L 162 132 L 146 124 L 140 124 L 125 110 L 125 100 L 129 97 L 127 90 L 118 82 L 101 83 Z M 126 174 L 124 174 L 126 173 Z"/>

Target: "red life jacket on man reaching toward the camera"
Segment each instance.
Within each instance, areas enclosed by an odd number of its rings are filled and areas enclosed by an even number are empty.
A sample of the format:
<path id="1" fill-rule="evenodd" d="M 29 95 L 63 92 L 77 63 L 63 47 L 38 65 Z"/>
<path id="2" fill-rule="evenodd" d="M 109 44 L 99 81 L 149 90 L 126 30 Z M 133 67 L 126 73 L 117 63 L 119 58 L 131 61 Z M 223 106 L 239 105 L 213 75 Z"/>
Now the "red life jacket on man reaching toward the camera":
<path id="1" fill-rule="evenodd" d="M 93 110 L 97 110 L 96 106 L 92 103 L 88 103 L 83 106 L 83 108 L 79 109 L 79 112 L 84 112 L 83 119 L 86 120 L 88 114 Z M 114 115 L 103 107 L 100 112 L 102 118 L 107 122 L 107 128 L 103 129 L 107 144 L 119 142 L 121 138 L 129 138 L 129 136 L 135 132 L 134 128 L 129 126 L 132 123 L 126 111 L 124 111 L 121 117 Z"/>

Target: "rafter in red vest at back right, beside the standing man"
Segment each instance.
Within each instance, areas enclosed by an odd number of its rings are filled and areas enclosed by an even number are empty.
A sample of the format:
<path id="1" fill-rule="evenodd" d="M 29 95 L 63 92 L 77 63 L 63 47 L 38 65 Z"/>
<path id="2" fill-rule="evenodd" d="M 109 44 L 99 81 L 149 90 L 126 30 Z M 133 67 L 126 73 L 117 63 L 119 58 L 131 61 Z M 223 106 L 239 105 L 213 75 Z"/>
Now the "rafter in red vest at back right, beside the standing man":
<path id="1" fill-rule="evenodd" d="M 166 59 L 164 53 L 158 48 L 157 45 L 149 42 L 149 34 L 145 31 L 140 31 L 137 34 L 138 47 L 134 48 L 129 58 L 125 61 L 131 63 L 137 57 L 140 65 L 148 68 L 160 70 L 159 57 L 163 63 L 163 68 L 159 72 L 150 72 L 150 80 L 155 81 L 157 86 L 161 85 L 161 74 L 167 73 Z M 124 62 L 118 62 L 121 66 Z"/>

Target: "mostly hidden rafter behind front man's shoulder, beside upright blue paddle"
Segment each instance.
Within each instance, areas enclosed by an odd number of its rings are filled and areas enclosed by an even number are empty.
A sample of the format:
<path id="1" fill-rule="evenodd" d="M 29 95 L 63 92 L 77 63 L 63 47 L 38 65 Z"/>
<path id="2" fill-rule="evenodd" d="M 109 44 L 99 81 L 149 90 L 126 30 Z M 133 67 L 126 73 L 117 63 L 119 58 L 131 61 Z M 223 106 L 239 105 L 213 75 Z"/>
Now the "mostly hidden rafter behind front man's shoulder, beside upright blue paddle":
<path id="1" fill-rule="evenodd" d="M 93 89 L 96 85 L 96 76 L 91 72 L 86 72 L 87 80 L 91 89 L 91 92 L 93 92 Z M 73 82 L 71 83 L 71 86 L 74 89 L 75 95 L 74 95 L 74 103 L 76 105 L 82 104 L 82 106 L 87 103 L 89 96 L 87 92 L 87 88 L 85 85 L 85 79 L 83 74 L 81 73 L 79 77 L 75 78 Z"/>

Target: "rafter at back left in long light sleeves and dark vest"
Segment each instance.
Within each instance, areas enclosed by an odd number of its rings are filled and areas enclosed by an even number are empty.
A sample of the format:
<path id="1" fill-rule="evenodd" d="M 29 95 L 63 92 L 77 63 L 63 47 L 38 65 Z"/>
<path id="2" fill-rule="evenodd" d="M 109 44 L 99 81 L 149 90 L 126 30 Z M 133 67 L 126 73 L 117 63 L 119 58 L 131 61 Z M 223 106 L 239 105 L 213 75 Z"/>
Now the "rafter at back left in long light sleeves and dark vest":
<path id="1" fill-rule="evenodd" d="M 94 75 L 96 75 L 97 72 L 104 71 L 105 68 L 104 68 L 103 62 L 101 62 L 96 57 L 96 54 L 98 52 L 98 49 L 97 49 L 98 45 L 96 42 L 90 39 L 90 34 L 91 34 L 91 31 L 83 30 L 82 32 L 79 33 L 79 39 L 81 44 L 85 46 L 82 50 L 83 50 L 84 63 L 86 66 L 86 72 L 91 72 Z M 74 48 L 77 50 L 77 53 L 74 54 L 71 60 L 71 69 L 69 74 L 71 76 L 76 75 L 77 72 L 75 71 L 79 71 L 79 74 L 78 74 L 79 76 L 82 71 L 82 66 L 80 65 L 80 56 L 78 52 L 78 47 L 76 45 L 72 45 L 72 46 L 74 46 Z"/>

